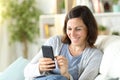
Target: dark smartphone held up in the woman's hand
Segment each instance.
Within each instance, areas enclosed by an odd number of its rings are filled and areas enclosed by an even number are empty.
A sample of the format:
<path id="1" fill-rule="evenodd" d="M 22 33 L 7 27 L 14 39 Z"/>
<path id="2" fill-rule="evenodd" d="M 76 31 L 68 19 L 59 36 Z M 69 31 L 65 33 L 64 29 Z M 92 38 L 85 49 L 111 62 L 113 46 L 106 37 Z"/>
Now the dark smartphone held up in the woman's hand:
<path id="1" fill-rule="evenodd" d="M 43 57 L 51 58 L 54 60 L 53 48 L 52 46 L 42 46 Z"/>

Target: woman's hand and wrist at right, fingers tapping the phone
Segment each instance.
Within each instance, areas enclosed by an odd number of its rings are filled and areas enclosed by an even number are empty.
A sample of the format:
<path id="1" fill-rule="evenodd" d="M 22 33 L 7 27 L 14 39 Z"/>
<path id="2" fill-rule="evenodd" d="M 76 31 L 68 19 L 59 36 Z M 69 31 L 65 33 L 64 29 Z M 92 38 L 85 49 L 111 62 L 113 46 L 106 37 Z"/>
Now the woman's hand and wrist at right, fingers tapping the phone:
<path id="1" fill-rule="evenodd" d="M 57 56 L 57 63 L 60 68 L 61 75 L 65 76 L 70 79 L 70 75 L 68 72 L 68 60 L 64 56 Z"/>

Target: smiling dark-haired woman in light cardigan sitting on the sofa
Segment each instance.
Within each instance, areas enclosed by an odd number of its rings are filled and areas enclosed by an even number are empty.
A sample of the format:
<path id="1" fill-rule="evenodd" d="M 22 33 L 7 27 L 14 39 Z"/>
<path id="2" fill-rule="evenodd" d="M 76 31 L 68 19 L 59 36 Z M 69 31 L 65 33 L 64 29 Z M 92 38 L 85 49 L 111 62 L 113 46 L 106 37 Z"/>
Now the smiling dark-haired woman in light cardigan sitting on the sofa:
<path id="1" fill-rule="evenodd" d="M 94 46 L 98 29 L 89 8 L 86 6 L 72 8 L 66 15 L 63 32 L 64 36 L 51 37 L 44 44 L 52 46 L 56 60 L 43 58 L 42 50 L 40 50 L 26 66 L 24 70 L 26 78 L 35 80 L 95 79 L 99 73 L 102 52 Z"/>

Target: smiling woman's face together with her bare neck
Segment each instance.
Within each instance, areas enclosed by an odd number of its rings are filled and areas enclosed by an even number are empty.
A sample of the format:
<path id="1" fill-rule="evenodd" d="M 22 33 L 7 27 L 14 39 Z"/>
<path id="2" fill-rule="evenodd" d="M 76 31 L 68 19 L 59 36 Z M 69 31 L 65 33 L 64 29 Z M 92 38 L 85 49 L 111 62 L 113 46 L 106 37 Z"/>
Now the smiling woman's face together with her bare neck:
<path id="1" fill-rule="evenodd" d="M 87 46 L 86 44 L 87 28 L 86 25 L 83 23 L 82 19 L 73 18 L 68 21 L 67 35 L 71 40 L 71 45 L 69 46 L 71 54 L 73 56 L 80 55 L 80 53 Z"/>

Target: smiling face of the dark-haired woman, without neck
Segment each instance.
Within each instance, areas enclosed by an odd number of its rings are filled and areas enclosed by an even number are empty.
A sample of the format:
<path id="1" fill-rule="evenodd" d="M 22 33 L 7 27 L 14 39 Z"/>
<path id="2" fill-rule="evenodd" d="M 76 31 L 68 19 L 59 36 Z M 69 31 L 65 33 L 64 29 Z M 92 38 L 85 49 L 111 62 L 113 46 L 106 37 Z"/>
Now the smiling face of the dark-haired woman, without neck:
<path id="1" fill-rule="evenodd" d="M 72 45 L 84 45 L 87 38 L 87 27 L 80 18 L 72 18 L 67 22 L 67 35 Z"/>

